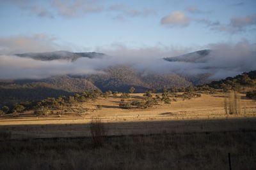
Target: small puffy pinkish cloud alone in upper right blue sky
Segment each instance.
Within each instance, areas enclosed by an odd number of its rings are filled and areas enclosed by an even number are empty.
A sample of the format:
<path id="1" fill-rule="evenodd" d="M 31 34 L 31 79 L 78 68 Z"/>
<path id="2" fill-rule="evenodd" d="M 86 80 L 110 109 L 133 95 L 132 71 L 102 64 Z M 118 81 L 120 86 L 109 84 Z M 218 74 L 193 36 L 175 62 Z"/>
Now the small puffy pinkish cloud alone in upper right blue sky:
<path id="1" fill-rule="evenodd" d="M 187 27 L 189 22 L 190 18 L 183 11 L 174 11 L 161 19 L 161 24 L 169 27 Z"/>

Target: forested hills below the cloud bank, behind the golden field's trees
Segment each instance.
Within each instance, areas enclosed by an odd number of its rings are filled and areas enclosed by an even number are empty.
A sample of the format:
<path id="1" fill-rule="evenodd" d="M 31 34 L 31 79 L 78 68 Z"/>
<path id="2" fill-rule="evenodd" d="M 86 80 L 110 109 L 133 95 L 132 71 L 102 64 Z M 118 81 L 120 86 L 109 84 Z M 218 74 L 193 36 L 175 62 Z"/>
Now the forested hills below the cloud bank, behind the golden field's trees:
<path id="1" fill-rule="evenodd" d="M 135 92 L 148 89 L 160 90 L 164 87 L 188 87 L 191 82 L 177 74 L 140 73 L 129 66 L 111 66 L 102 74 L 81 76 L 52 76 L 40 80 L 10 80 L 0 84 L 0 104 L 22 101 L 39 101 L 45 97 L 68 96 L 74 92 L 100 89 L 129 92 L 131 86 Z"/>

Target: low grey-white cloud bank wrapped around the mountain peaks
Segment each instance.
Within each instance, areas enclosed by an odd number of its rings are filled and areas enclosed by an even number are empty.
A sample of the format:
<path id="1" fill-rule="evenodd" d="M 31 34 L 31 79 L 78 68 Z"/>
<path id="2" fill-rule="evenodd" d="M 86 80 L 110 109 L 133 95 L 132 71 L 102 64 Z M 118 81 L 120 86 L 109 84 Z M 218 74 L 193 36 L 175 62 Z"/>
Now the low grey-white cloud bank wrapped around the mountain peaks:
<path id="1" fill-rule="evenodd" d="M 244 71 L 256 69 L 255 45 L 245 39 L 236 44 L 215 43 L 198 48 L 182 46 L 146 46 L 129 48 L 114 44 L 106 48 L 97 48 L 96 52 L 106 53 L 103 59 L 82 57 L 74 62 L 70 60 L 41 61 L 13 55 L 20 52 L 45 52 L 58 46 L 44 34 L 33 37 L 0 38 L 0 79 L 47 78 L 63 74 L 97 74 L 117 64 L 125 64 L 138 71 L 157 73 L 201 74 L 211 73 L 211 78 L 235 76 Z M 52 46 L 53 45 L 53 46 Z M 174 57 L 195 50 L 212 49 L 206 62 L 169 62 L 164 57 Z"/>

